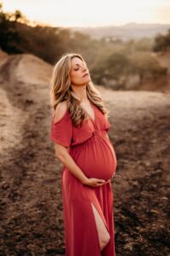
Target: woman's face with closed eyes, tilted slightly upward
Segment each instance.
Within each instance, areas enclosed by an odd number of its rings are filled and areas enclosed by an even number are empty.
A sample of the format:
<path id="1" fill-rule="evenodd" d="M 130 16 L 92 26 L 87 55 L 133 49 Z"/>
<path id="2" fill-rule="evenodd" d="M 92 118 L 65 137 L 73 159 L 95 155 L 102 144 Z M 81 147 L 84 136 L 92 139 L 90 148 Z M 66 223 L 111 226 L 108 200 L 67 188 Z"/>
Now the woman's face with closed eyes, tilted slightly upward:
<path id="1" fill-rule="evenodd" d="M 74 57 L 71 59 L 71 84 L 84 85 L 91 81 L 90 74 L 86 63 L 80 58 Z"/>

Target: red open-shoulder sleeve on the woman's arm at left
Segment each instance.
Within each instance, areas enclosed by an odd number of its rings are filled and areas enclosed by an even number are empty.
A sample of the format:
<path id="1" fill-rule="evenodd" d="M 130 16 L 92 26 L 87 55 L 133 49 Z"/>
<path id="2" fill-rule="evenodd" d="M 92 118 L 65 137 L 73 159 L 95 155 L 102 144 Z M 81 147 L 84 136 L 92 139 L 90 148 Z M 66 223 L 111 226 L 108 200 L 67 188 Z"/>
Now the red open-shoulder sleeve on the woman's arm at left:
<path id="1" fill-rule="evenodd" d="M 59 121 L 54 122 L 54 116 L 51 121 L 50 139 L 54 143 L 59 143 L 66 148 L 71 145 L 72 138 L 72 121 L 69 113 L 66 111 L 64 116 Z"/>

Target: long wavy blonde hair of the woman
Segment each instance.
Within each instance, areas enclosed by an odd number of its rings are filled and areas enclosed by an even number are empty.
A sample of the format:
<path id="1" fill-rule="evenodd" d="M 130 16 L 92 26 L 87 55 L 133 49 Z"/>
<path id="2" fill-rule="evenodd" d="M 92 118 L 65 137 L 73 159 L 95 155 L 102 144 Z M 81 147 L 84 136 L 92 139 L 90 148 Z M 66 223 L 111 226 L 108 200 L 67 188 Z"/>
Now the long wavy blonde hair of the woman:
<path id="1" fill-rule="evenodd" d="M 79 106 L 81 100 L 75 96 L 71 89 L 71 59 L 78 57 L 84 63 L 82 55 L 76 53 L 66 53 L 62 55 L 59 61 L 55 64 L 51 78 L 50 98 L 52 108 L 57 107 L 59 102 L 67 102 L 67 109 L 71 115 L 72 123 L 80 125 L 84 119 L 88 118 L 88 114 Z M 87 96 L 90 102 L 93 102 L 99 110 L 108 117 L 109 111 L 105 108 L 105 104 L 99 94 L 99 91 L 94 87 L 92 82 L 86 85 Z"/>

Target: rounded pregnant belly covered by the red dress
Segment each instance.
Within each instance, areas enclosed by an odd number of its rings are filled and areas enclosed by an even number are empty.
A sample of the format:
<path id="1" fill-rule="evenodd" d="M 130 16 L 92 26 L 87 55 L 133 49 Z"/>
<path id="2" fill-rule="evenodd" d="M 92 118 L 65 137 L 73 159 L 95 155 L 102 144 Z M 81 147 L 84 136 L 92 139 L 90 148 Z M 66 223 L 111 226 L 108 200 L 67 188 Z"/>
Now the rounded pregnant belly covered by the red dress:
<path id="1" fill-rule="evenodd" d="M 76 149 L 73 158 L 87 177 L 108 180 L 116 172 L 116 154 L 110 141 L 93 138 Z"/>

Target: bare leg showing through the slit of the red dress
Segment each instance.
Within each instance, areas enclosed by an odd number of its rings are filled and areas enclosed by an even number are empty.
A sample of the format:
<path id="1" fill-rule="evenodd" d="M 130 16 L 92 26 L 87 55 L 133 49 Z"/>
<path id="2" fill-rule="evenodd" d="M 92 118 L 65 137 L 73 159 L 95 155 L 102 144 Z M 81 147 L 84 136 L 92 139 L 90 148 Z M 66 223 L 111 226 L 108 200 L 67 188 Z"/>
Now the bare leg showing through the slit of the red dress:
<path id="1" fill-rule="evenodd" d="M 107 228 L 105 227 L 105 223 L 103 222 L 103 219 L 100 217 L 99 212 L 96 210 L 92 202 L 91 204 L 94 211 L 94 218 L 95 218 L 95 222 L 98 230 L 99 246 L 100 246 L 100 250 L 102 251 L 103 248 L 110 241 L 111 236 L 108 233 Z"/>

